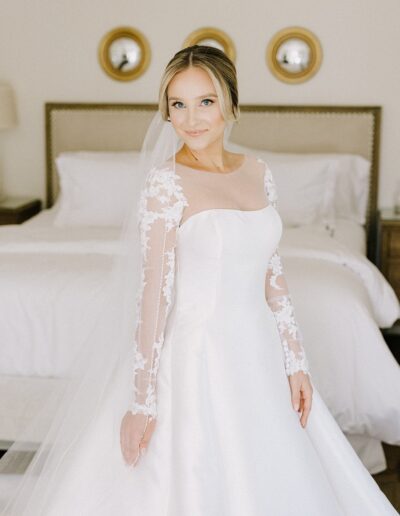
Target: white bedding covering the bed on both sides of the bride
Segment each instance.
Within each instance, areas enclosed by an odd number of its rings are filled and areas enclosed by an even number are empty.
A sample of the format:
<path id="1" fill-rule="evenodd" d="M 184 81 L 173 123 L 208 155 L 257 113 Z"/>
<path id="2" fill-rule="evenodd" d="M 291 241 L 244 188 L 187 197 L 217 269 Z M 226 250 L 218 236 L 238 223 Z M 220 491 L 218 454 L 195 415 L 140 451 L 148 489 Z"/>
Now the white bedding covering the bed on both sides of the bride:
<path id="1" fill-rule="evenodd" d="M 0 228 L 3 387 L 15 389 L 21 376 L 64 373 L 79 351 L 69 336 L 90 316 L 82 308 L 96 306 L 117 249 L 117 228 L 57 228 L 54 214 L 44 210 Z M 400 369 L 378 328 L 391 326 L 400 307 L 365 257 L 364 230 L 342 221 L 332 238 L 323 227 L 285 228 L 279 249 L 311 372 L 330 411 L 345 432 L 400 444 Z"/>

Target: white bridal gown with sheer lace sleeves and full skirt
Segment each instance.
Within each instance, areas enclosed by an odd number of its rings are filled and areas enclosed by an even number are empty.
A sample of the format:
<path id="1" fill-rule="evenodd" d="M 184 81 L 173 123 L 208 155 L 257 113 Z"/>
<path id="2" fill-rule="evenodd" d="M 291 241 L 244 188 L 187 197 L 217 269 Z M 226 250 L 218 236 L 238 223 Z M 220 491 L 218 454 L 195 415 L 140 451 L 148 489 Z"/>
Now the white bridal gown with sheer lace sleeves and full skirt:
<path id="1" fill-rule="evenodd" d="M 124 464 L 108 417 L 120 397 L 116 375 L 60 466 L 63 481 L 39 512 L 24 514 L 397 514 L 315 385 L 305 428 L 292 407 L 288 374 L 309 371 L 277 251 L 282 222 L 268 166 L 246 156 L 227 174 L 176 167 L 154 170 L 140 208 L 145 281 L 132 410 L 157 416 L 148 450 L 135 467 Z"/>

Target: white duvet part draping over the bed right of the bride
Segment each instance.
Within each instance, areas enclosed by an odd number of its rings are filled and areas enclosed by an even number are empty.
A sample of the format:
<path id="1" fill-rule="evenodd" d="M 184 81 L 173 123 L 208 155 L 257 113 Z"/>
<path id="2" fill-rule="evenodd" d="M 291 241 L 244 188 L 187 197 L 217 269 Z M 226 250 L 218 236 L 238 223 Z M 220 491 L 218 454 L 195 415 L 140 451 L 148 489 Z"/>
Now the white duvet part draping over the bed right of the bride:
<path id="1" fill-rule="evenodd" d="M 379 331 L 400 317 L 392 287 L 364 255 L 311 227 L 286 228 L 280 254 L 335 419 L 349 434 L 400 444 L 400 367 Z"/>

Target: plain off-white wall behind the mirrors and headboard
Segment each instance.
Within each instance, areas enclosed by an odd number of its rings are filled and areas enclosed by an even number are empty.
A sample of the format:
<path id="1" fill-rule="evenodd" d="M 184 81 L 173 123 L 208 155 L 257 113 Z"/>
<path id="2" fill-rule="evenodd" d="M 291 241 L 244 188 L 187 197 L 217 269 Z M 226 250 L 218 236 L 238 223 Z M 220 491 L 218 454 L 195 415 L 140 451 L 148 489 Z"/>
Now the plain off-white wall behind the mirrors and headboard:
<path id="1" fill-rule="evenodd" d="M 400 179 L 399 0 L 1 0 L 0 81 L 15 89 L 19 125 L 0 133 L 2 189 L 45 198 L 46 101 L 155 102 L 167 61 L 192 30 L 225 30 L 237 49 L 240 101 L 382 105 L 379 206 Z M 110 29 L 130 25 L 149 39 L 152 61 L 133 82 L 114 81 L 97 61 Z M 265 65 L 279 29 L 300 25 L 323 47 L 320 71 L 287 85 Z"/>

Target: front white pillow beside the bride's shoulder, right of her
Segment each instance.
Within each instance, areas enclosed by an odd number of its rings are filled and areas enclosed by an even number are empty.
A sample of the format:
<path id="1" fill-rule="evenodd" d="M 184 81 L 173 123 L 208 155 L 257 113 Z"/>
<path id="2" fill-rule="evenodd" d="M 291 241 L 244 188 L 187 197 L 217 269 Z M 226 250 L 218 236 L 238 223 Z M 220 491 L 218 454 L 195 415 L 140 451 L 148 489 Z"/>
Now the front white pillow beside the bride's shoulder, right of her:
<path id="1" fill-rule="evenodd" d="M 278 191 L 278 211 L 285 226 L 294 227 L 315 222 L 334 227 L 335 173 L 324 158 L 293 161 L 271 158 L 270 153 L 228 143 L 235 152 L 254 154 L 271 169 Z"/>

